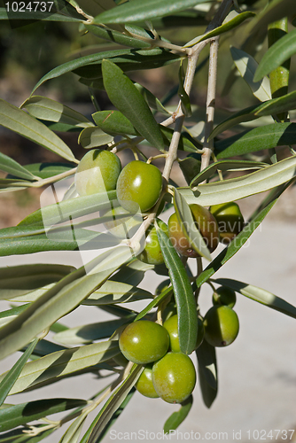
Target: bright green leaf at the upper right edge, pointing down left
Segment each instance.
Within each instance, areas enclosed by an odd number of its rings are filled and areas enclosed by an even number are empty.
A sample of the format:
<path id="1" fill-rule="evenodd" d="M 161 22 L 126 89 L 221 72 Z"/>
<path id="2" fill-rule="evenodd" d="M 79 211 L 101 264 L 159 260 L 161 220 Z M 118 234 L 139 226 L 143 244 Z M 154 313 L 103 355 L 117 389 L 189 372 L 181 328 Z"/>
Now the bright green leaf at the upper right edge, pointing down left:
<path id="1" fill-rule="evenodd" d="M 296 29 L 293 29 L 289 34 L 280 38 L 277 43 L 274 43 L 269 51 L 266 51 L 261 62 L 254 74 L 254 82 L 258 82 L 264 75 L 268 75 L 296 53 Z"/>

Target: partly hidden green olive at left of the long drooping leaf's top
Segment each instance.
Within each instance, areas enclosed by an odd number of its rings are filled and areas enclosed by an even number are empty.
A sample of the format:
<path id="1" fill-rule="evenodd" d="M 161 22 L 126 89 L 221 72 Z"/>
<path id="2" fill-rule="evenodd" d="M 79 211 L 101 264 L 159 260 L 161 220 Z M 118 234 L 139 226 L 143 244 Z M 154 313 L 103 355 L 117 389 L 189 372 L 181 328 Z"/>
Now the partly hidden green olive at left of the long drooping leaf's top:
<path id="1" fill-rule="evenodd" d="M 168 237 L 166 223 L 159 219 L 158 222 L 160 229 L 162 229 Z M 161 265 L 164 262 L 155 226 L 152 225 L 147 229 L 144 250 L 137 256 L 137 258 L 150 265 Z"/>

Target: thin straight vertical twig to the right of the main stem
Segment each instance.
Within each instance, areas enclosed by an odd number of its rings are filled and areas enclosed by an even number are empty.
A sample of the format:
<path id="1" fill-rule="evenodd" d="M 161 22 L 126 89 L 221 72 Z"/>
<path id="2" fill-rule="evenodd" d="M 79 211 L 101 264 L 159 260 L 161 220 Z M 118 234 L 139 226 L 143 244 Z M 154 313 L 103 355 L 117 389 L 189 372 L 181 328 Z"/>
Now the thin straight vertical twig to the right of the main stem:
<path id="1" fill-rule="evenodd" d="M 215 106 L 215 97 L 216 97 L 218 49 L 219 49 L 219 36 L 214 37 L 214 39 L 212 39 L 210 43 L 208 83 L 207 83 L 207 96 L 206 96 L 205 141 L 204 141 L 204 152 L 201 155 L 200 171 L 208 167 L 211 159 L 211 154 L 214 149 L 214 139 L 212 138 L 211 140 L 208 140 L 208 137 L 210 136 L 214 126 L 214 106 Z M 204 180 L 202 183 L 206 183 L 206 180 Z"/>

